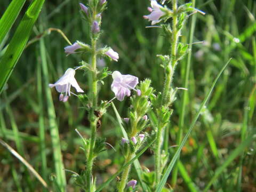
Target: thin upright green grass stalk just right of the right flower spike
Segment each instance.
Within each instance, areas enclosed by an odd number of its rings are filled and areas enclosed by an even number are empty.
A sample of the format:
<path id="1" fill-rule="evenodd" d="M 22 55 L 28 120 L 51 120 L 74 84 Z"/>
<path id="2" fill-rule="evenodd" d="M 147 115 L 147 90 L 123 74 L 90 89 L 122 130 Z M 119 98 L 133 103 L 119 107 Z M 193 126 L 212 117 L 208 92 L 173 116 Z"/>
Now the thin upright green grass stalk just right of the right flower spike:
<path id="1" fill-rule="evenodd" d="M 196 0 L 192 1 L 192 7 L 195 7 Z M 187 58 L 187 65 L 185 69 L 185 79 L 183 83 L 183 87 L 188 88 L 188 81 L 189 81 L 189 71 L 190 71 L 190 65 L 191 65 L 191 54 L 192 54 L 192 43 L 193 43 L 193 36 L 196 26 L 196 14 L 192 16 L 191 25 L 190 25 L 190 33 L 189 33 L 189 52 L 188 52 L 188 58 Z M 186 99 L 188 97 L 187 91 L 183 92 L 182 99 L 181 99 L 181 113 L 179 117 L 179 130 L 177 134 L 177 145 L 180 145 L 182 141 L 182 134 L 184 129 L 184 121 L 185 121 L 185 111 L 186 111 Z M 178 159 L 179 161 L 179 159 Z M 171 184 L 174 187 L 177 183 L 177 176 L 178 176 L 178 165 L 175 165 L 173 172 L 172 172 L 172 181 Z"/>

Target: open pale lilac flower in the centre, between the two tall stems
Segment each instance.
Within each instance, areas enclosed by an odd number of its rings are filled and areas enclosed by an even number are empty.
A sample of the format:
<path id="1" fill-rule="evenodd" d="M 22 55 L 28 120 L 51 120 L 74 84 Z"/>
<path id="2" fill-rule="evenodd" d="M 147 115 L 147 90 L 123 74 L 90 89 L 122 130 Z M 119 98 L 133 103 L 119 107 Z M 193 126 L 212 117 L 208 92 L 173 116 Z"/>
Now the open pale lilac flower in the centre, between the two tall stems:
<path id="1" fill-rule="evenodd" d="M 134 88 L 139 83 L 138 77 L 122 75 L 119 71 L 114 71 L 112 78 L 111 90 L 115 93 L 117 100 L 123 101 L 125 95 L 129 97 L 131 95 L 130 90 L 137 91 Z"/>

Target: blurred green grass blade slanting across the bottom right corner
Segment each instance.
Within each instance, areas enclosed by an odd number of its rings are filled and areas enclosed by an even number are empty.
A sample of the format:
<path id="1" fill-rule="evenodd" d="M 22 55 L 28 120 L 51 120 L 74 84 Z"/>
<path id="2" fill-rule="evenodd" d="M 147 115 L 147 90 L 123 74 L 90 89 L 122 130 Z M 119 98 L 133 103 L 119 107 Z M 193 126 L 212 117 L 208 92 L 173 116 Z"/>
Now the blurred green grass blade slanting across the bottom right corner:
<path id="1" fill-rule="evenodd" d="M 222 163 L 222 165 L 220 167 L 218 167 L 218 169 L 215 171 L 215 174 L 213 175 L 212 179 L 210 180 L 210 182 L 207 184 L 207 186 L 204 188 L 203 192 L 206 192 L 209 190 L 209 188 L 211 187 L 212 183 L 218 179 L 218 177 L 220 176 L 220 174 L 222 173 L 222 171 L 224 171 L 226 169 L 226 167 L 234 161 L 234 159 L 241 154 L 244 149 L 250 145 L 250 143 L 252 142 L 252 140 L 254 139 L 253 135 L 251 135 L 250 137 L 246 138 L 230 155 L 229 157 L 226 159 L 225 162 Z"/>

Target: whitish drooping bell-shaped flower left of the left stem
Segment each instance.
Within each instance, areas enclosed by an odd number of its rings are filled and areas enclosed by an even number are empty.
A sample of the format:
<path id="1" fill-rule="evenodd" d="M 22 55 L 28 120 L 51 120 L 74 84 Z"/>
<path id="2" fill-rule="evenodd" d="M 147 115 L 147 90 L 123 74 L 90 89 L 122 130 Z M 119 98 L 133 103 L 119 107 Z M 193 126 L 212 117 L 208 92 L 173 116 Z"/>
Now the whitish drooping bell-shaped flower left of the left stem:
<path id="1" fill-rule="evenodd" d="M 56 83 L 49 84 L 51 88 L 55 86 L 55 89 L 59 93 L 61 93 L 59 97 L 60 101 L 66 102 L 68 100 L 68 97 L 70 96 L 71 85 L 75 87 L 77 92 L 84 92 L 76 82 L 75 74 L 75 69 L 68 68 L 65 74 L 62 77 L 60 77 L 60 79 Z M 62 93 L 65 93 L 65 96 L 63 96 Z"/>

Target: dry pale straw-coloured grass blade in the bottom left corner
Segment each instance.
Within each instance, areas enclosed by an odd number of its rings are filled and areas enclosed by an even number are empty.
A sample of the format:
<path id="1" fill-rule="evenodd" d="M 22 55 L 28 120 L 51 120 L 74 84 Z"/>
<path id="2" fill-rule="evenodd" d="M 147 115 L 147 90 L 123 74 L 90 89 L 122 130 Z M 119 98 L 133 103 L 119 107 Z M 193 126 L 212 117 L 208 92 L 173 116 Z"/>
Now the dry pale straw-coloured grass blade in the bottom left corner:
<path id="1" fill-rule="evenodd" d="M 9 146 L 6 142 L 4 142 L 2 139 L 0 139 L 1 145 L 3 145 L 6 149 L 10 151 L 15 157 L 17 157 L 27 168 L 31 173 L 35 175 L 35 177 L 42 183 L 42 185 L 47 188 L 47 183 L 43 180 L 43 178 L 36 172 L 36 170 L 22 157 L 20 156 L 17 151 L 15 151 L 11 146 Z"/>

